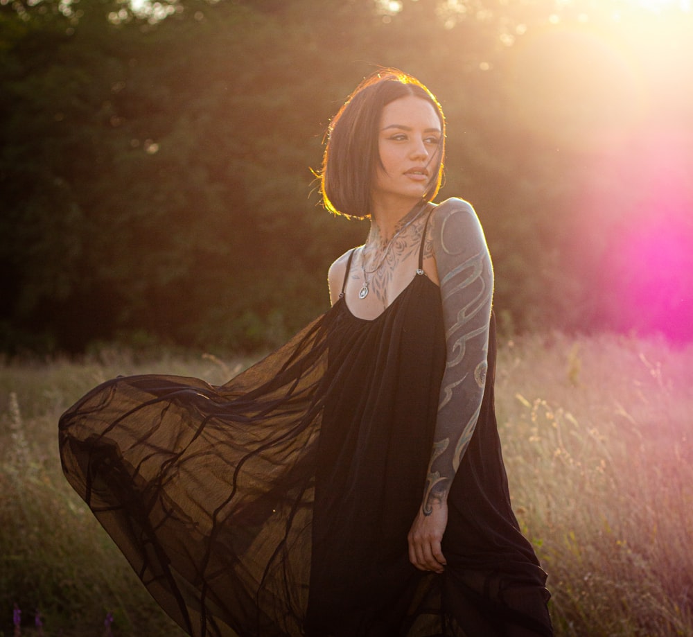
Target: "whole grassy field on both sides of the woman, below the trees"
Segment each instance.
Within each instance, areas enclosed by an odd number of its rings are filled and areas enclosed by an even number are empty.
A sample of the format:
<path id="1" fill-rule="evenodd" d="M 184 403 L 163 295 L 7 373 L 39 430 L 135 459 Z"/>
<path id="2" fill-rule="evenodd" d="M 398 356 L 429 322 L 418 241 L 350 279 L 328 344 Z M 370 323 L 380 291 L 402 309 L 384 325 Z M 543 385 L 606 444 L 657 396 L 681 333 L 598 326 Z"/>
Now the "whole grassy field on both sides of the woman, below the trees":
<path id="1" fill-rule="evenodd" d="M 177 636 L 62 478 L 57 422 L 100 381 L 222 383 L 247 360 L 101 349 L 0 365 L 0 636 Z M 693 636 L 693 346 L 617 336 L 500 344 L 498 425 L 561 636 Z M 34 627 L 38 609 L 43 627 Z"/>

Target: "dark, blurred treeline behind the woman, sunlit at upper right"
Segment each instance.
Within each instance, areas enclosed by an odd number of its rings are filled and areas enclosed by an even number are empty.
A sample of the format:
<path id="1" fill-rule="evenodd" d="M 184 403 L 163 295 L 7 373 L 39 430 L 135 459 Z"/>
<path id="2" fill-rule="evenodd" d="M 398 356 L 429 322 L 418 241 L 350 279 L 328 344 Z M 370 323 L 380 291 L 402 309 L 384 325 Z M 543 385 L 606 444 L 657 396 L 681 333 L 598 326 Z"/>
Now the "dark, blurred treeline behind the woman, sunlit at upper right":
<path id="1" fill-rule="evenodd" d="M 690 338 L 689 17 L 635 59 L 642 16 L 507 4 L 0 3 L 0 349 L 283 342 L 365 238 L 310 169 L 377 65 L 443 103 L 502 329 Z"/>

